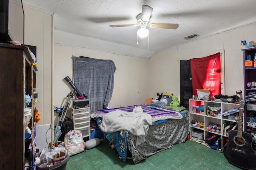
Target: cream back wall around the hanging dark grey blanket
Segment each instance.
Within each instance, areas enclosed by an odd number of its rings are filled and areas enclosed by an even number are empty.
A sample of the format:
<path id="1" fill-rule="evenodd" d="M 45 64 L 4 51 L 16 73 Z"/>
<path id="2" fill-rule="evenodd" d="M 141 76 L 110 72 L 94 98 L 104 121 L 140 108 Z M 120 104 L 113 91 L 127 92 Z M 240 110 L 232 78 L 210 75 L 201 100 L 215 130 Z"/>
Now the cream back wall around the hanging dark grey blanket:
<path id="1" fill-rule="evenodd" d="M 58 33 L 55 35 L 58 35 Z M 74 37 L 76 36 L 74 35 Z M 58 41 L 58 37 L 55 37 L 55 39 L 57 42 L 60 42 Z M 74 39 L 70 39 L 70 41 L 74 41 Z M 104 45 L 104 42 L 102 43 Z M 144 104 L 146 98 L 149 98 L 149 59 L 55 43 L 53 77 L 54 106 L 62 106 L 63 99 L 70 92 L 70 86 L 63 79 L 66 76 L 69 76 L 71 79 L 73 78 L 72 56 L 85 56 L 114 61 L 116 71 L 114 73 L 114 91 L 111 98 L 111 107 Z"/>

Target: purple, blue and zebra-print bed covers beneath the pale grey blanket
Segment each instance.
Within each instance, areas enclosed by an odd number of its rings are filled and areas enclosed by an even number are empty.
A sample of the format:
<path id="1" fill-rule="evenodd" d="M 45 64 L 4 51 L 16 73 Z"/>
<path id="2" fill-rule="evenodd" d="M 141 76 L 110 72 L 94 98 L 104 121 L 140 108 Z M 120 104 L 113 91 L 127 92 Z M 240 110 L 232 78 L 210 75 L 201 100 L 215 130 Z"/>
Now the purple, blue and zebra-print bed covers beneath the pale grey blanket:
<path id="1" fill-rule="evenodd" d="M 188 111 L 179 112 L 140 106 L 144 113 L 152 117 L 152 126 L 150 125 L 147 131 L 146 141 L 140 145 L 137 145 L 137 136 L 130 132 L 122 133 L 122 131 L 116 130 L 115 132 L 106 133 L 101 129 L 102 119 L 110 112 L 117 109 L 133 112 L 135 106 L 100 109 L 90 115 L 93 119 L 97 119 L 100 130 L 103 131 L 104 136 L 110 143 L 116 147 L 123 162 L 126 162 L 127 149 L 132 153 L 133 162 L 137 163 L 150 155 L 172 147 L 176 143 L 184 142 L 189 133 Z"/>

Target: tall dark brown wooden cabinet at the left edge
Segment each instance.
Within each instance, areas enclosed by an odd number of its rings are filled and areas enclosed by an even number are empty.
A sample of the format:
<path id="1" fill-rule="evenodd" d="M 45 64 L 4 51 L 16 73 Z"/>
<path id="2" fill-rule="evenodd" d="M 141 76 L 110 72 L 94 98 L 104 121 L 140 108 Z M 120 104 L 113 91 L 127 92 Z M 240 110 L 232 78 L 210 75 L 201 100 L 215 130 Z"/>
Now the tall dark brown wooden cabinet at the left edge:
<path id="1" fill-rule="evenodd" d="M 24 95 L 33 99 L 36 66 L 25 46 L 0 43 L 0 169 L 24 169 Z M 33 100 L 31 100 L 33 101 Z M 29 119 L 33 128 L 34 105 Z M 32 134 L 33 135 L 33 134 Z M 34 143 L 35 141 L 32 141 Z"/>

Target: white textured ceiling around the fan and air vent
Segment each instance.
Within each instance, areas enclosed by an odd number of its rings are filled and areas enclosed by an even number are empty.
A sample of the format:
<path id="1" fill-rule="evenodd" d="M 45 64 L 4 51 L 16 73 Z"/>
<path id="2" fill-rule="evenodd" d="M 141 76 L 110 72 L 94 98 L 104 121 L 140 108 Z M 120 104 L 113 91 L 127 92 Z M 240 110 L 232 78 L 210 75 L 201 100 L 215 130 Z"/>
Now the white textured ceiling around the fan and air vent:
<path id="1" fill-rule="evenodd" d="M 149 51 L 256 22 L 256 0 L 23 0 L 24 4 L 54 12 L 54 29 Z M 178 23 L 178 29 L 150 28 L 149 39 L 139 38 L 134 24 L 142 5 L 154 10 L 150 23 Z M 200 37 L 182 37 L 197 33 Z"/>

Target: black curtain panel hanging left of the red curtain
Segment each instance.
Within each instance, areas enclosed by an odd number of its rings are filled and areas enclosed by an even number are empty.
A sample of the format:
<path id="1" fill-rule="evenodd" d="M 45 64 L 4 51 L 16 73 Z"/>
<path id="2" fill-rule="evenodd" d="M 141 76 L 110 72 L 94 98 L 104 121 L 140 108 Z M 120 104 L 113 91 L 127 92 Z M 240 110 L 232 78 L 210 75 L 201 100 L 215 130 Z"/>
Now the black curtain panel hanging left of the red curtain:
<path id="1" fill-rule="evenodd" d="M 192 76 L 190 60 L 180 61 L 180 106 L 189 110 L 189 99 L 192 98 Z"/>

